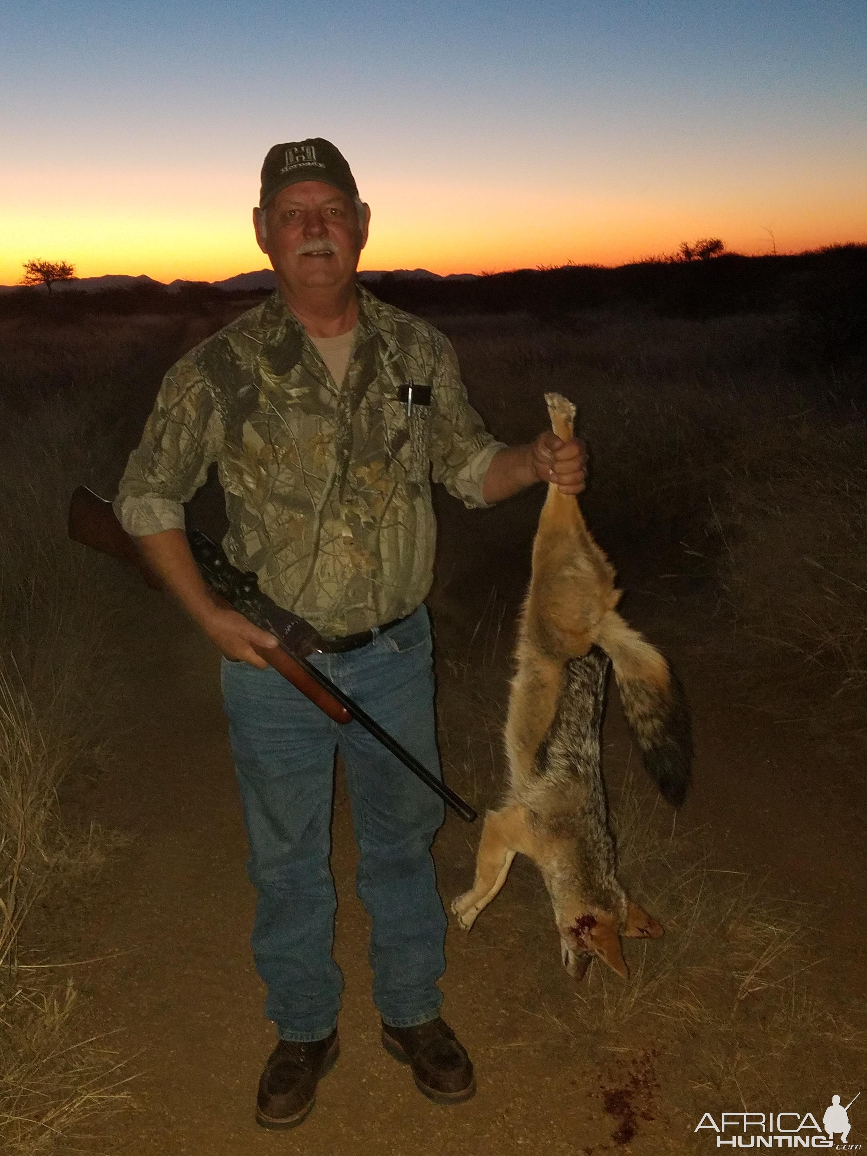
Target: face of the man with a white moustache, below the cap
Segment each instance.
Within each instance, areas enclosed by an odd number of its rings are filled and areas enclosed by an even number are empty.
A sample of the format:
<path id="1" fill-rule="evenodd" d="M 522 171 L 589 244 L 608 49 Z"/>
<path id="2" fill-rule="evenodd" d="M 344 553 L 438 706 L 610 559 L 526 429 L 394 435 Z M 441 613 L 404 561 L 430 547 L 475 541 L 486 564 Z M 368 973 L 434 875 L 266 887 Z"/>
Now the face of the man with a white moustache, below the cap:
<path id="1" fill-rule="evenodd" d="M 350 282 L 368 239 L 369 220 L 365 206 L 362 227 L 350 198 L 320 180 L 281 188 L 266 209 L 253 209 L 259 247 L 290 291 Z"/>

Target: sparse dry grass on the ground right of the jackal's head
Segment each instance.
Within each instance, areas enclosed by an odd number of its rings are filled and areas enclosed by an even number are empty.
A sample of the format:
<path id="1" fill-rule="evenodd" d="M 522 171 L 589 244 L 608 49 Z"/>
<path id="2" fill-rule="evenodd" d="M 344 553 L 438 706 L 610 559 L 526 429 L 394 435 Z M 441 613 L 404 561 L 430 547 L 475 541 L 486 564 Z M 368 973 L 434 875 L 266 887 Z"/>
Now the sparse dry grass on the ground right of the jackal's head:
<path id="1" fill-rule="evenodd" d="M 666 935 L 631 944 L 628 984 L 591 969 L 577 994 L 588 1029 L 614 1050 L 652 1042 L 681 1080 L 688 1073 L 680 1109 L 696 1119 L 813 1103 L 851 1082 L 867 1018 L 823 987 L 821 913 L 722 869 L 707 832 L 666 836 L 654 807 L 628 772 L 614 803 L 621 873 Z"/>

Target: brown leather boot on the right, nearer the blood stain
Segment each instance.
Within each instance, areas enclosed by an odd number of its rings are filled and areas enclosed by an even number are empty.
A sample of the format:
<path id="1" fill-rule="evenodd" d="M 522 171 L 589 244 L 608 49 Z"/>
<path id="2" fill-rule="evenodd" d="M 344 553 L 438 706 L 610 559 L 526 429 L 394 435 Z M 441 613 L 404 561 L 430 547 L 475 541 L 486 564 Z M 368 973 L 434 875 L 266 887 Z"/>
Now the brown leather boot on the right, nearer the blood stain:
<path id="1" fill-rule="evenodd" d="M 383 1046 L 395 1060 L 413 1066 L 416 1088 L 436 1104 L 459 1104 L 475 1095 L 473 1064 L 439 1016 L 415 1028 L 383 1023 Z"/>

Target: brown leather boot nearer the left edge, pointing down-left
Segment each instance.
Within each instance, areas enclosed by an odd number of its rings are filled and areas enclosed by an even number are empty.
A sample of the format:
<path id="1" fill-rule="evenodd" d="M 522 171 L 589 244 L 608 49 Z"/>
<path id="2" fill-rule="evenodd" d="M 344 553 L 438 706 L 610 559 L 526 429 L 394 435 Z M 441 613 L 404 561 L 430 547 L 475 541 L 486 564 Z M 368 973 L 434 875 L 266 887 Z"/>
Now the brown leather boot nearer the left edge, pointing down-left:
<path id="1" fill-rule="evenodd" d="M 281 1039 L 259 1080 L 255 1122 L 264 1128 L 294 1128 L 316 1103 L 316 1085 L 340 1054 L 338 1029 L 325 1039 L 299 1044 Z"/>

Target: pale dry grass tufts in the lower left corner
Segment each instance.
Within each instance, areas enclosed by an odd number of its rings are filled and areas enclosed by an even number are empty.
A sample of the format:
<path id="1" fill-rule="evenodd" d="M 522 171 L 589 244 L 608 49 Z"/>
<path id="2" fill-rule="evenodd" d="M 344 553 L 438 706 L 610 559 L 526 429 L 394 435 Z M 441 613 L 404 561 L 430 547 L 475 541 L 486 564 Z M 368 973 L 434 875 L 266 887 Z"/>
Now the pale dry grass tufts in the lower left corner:
<path id="1" fill-rule="evenodd" d="M 50 968 L 21 958 L 34 947 L 34 906 L 104 854 L 98 831 L 75 839 L 60 825 L 58 787 L 92 756 L 95 736 L 65 725 L 64 699 L 52 706 L 38 714 L 20 673 L 0 669 L 0 1144 L 21 1156 L 71 1142 L 92 1112 L 126 1096 L 117 1057 L 82 1038 L 72 981 L 58 986 Z"/>

